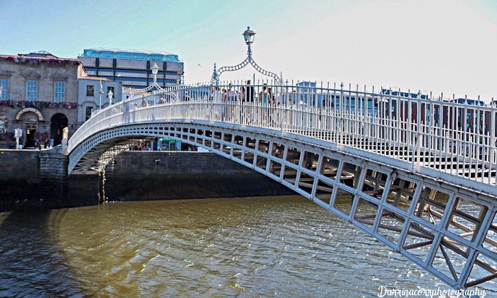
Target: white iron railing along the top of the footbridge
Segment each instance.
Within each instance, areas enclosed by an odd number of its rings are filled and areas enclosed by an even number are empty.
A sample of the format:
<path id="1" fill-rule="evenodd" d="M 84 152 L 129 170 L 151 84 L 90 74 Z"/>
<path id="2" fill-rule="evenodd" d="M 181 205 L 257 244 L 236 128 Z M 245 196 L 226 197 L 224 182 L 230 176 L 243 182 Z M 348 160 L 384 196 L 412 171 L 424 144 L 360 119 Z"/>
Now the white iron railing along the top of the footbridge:
<path id="1" fill-rule="evenodd" d="M 69 151 L 117 125 L 198 119 L 299 134 L 494 186 L 497 108 L 459 102 L 310 82 L 181 85 L 98 112 L 71 137 Z"/>

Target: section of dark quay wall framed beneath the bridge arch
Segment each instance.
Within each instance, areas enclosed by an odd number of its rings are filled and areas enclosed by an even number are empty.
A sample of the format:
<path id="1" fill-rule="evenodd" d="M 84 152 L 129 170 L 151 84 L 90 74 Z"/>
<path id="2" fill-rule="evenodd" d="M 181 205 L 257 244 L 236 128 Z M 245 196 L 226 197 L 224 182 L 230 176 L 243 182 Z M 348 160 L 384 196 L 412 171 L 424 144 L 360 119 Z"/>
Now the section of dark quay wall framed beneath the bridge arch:
<path id="1" fill-rule="evenodd" d="M 277 181 L 214 153 L 125 151 L 113 168 L 106 173 L 105 191 L 119 201 L 294 194 Z"/>

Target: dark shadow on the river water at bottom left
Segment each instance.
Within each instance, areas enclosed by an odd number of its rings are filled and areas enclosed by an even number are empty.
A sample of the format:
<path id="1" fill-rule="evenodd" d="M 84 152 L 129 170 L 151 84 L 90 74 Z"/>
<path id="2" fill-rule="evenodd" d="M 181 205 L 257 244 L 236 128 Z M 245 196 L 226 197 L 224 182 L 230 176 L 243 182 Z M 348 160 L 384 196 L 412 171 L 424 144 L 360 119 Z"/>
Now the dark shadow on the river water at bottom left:
<path id="1" fill-rule="evenodd" d="M 66 212 L 0 213 L 0 297 L 84 293 L 58 245 Z"/>

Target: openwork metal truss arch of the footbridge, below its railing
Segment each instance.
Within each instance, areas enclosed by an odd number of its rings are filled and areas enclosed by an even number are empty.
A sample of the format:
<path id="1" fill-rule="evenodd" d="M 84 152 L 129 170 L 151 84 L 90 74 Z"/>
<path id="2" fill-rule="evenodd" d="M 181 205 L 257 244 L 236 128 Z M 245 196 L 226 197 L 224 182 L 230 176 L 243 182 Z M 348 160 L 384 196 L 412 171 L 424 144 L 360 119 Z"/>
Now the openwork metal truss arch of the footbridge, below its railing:
<path id="1" fill-rule="evenodd" d="M 129 144 L 147 137 L 178 139 L 250 167 L 348 220 L 451 287 L 495 282 L 495 198 L 277 131 L 172 121 L 122 125 L 78 144 L 70 153 L 70 169 L 103 169 Z"/>

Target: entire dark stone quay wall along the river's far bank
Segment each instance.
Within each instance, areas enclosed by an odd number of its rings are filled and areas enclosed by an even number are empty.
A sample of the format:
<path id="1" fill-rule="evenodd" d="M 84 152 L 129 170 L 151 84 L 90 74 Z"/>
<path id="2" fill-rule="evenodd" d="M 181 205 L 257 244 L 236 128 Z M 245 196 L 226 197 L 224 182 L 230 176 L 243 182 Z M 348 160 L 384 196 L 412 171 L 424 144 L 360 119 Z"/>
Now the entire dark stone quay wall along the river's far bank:
<path id="1" fill-rule="evenodd" d="M 143 201 L 294 194 L 252 169 L 205 152 L 125 151 L 104 176 L 68 176 L 67 169 L 60 147 L 0 150 L 0 211 L 95 205 L 104 196 Z"/>

